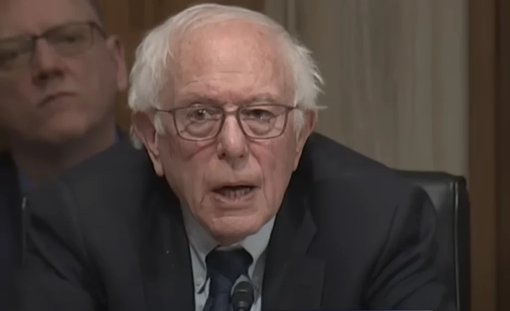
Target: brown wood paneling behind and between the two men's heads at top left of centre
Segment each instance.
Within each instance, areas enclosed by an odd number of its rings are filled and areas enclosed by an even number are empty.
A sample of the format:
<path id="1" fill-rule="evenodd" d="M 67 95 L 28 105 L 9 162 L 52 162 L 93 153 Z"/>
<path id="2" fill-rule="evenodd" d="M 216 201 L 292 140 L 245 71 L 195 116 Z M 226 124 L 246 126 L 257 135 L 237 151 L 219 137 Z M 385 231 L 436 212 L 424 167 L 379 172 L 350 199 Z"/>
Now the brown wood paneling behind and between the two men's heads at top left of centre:
<path id="1" fill-rule="evenodd" d="M 133 64 L 134 50 L 149 29 L 171 15 L 202 1 L 193 0 L 101 0 L 110 33 L 118 34 L 126 46 L 129 68 Z M 256 11 L 264 9 L 264 0 L 221 0 L 216 3 L 236 5 Z M 117 102 L 117 120 L 121 127 L 128 128 L 130 114 L 126 109 L 126 94 L 120 94 Z"/>

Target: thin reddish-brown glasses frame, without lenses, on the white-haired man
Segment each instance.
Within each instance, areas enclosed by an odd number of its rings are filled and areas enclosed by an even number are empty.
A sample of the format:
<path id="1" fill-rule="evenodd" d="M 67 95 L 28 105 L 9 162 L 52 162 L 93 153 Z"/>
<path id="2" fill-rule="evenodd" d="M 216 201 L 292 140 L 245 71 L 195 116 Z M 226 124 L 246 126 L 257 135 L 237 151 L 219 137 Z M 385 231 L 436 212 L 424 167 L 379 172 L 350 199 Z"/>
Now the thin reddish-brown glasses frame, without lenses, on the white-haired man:
<path id="1" fill-rule="evenodd" d="M 244 108 L 252 108 L 252 107 L 282 107 L 285 109 L 284 111 L 284 125 L 282 126 L 282 131 L 277 134 L 277 135 L 272 135 L 272 136 L 268 136 L 268 137 L 253 137 L 251 135 L 248 135 L 244 129 L 244 126 L 242 125 L 241 123 L 241 111 L 244 109 Z M 219 107 L 210 107 L 210 106 L 207 106 L 207 107 L 204 107 L 204 108 L 214 108 L 214 109 L 218 109 L 218 111 L 221 111 L 221 119 L 220 119 L 220 124 L 218 126 L 218 131 L 216 132 L 216 134 L 214 134 L 213 136 L 211 137 L 208 137 L 208 138 L 187 138 L 187 137 L 183 137 L 181 135 L 181 133 L 179 132 L 179 127 L 177 127 L 177 118 L 175 117 L 175 114 L 177 111 L 180 111 L 180 110 L 185 110 L 185 109 L 190 109 L 192 107 L 179 107 L 179 108 L 173 108 L 173 109 L 167 109 L 167 110 L 164 110 L 164 109 L 156 109 L 156 112 L 162 112 L 162 113 L 167 113 L 167 114 L 170 114 L 172 116 L 172 119 L 173 119 L 173 127 L 175 128 L 175 132 L 177 133 L 177 136 L 179 136 L 181 139 L 183 140 L 187 140 L 187 141 L 208 141 L 208 140 L 214 140 L 218 137 L 218 135 L 221 133 L 221 131 L 223 131 L 223 125 L 225 124 L 225 120 L 226 120 L 226 117 L 227 116 L 230 116 L 230 115 L 235 115 L 235 118 L 237 120 L 237 125 L 239 126 L 239 128 L 241 128 L 241 132 L 243 133 L 243 135 L 245 137 L 248 137 L 250 139 L 254 139 L 254 140 L 268 140 L 268 139 L 274 139 L 276 137 L 279 137 L 279 136 L 282 136 L 284 133 L 285 133 L 285 130 L 287 129 L 287 124 L 289 122 L 289 113 L 298 109 L 297 107 L 292 107 L 292 106 L 287 106 L 287 105 L 281 105 L 281 104 L 277 104 L 277 103 L 267 103 L 267 104 L 260 104 L 260 105 L 252 105 L 252 106 L 242 106 L 242 107 L 239 107 L 238 109 L 236 110 L 233 110 L 233 111 L 225 111 Z"/>

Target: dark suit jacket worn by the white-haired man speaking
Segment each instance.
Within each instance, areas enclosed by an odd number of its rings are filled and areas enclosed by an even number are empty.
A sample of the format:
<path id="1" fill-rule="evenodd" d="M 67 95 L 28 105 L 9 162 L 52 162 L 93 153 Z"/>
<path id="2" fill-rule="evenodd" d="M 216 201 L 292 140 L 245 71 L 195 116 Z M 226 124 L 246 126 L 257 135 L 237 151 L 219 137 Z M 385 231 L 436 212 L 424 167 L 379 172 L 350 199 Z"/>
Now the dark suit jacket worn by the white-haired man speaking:
<path id="1" fill-rule="evenodd" d="M 117 144 L 29 198 L 27 311 L 194 309 L 179 201 L 143 150 Z M 454 310 L 423 190 L 310 137 L 268 246 L 264 310 Z"/>

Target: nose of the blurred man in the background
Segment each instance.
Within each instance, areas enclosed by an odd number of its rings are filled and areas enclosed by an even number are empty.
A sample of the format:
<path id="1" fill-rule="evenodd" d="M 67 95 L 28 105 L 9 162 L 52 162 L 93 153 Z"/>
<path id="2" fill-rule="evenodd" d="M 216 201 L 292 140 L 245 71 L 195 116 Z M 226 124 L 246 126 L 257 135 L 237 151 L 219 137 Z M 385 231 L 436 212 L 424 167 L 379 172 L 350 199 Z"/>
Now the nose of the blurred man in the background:
<path id="1" fill-rule="evenodd" d="M 39 39 L 35 43 L 32 59 L 32 77 L 36 84 L 44 84 L 48 80 L 61 76 L 63 73 L 59 55 L 46 40 Z"/>

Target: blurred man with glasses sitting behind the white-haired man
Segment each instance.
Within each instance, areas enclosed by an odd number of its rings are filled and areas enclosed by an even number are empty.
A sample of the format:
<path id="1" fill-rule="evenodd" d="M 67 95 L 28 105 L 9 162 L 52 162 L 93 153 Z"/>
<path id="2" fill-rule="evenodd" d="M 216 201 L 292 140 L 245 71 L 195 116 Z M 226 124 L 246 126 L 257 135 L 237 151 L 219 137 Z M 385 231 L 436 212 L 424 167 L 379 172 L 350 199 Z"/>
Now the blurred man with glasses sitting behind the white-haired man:
<path id="1" fill-rule="evenodd" d="M 0 0 L 0 309 L 21 264 L 22 197 L 115 140 L 122 45 L 95 1 Z"/>

